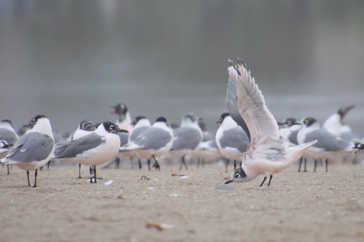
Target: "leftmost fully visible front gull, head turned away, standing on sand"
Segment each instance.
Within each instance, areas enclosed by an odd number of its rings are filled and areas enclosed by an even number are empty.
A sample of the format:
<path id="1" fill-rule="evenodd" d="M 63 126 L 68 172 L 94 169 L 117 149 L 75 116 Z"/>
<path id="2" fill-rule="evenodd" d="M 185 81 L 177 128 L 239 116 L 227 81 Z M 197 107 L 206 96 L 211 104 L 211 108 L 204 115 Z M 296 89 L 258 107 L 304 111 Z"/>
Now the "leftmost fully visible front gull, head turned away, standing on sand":
<path id="1" fill-rule="evenodd" d="M 28 186 L 29 170 L 35 170 L 34 186 L 37 183 L 38 168 L 44 166 L 54 151 L 54 139 L 49 119 L 44 115 L 37 115 L 31 120 L 32 129 L 21 136 L 13 145 L 9 154 L 1 163 L 14 163 L 27 171 Z"/>

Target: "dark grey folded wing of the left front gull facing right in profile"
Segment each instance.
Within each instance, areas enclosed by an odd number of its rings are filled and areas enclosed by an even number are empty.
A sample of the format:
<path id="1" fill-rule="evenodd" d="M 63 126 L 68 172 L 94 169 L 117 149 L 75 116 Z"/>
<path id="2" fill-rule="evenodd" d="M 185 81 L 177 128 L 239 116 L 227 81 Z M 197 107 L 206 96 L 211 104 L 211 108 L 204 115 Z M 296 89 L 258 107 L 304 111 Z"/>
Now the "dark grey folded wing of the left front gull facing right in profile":
<path id="1" fill-rule="evenodd" d="M 55 146 L 52 159 L 76 157 L 76 155 L 104 143 L 102 138 L 103 136 L 91 133 L 75 140 L 59 142 Z"/>

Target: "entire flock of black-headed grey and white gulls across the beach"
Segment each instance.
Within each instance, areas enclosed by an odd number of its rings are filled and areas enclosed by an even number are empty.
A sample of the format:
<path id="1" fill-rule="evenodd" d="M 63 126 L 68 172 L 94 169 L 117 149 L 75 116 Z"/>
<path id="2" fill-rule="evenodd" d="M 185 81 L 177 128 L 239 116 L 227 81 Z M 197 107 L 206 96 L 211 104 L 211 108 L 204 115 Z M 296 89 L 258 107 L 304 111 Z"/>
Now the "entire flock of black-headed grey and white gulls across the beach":
<path id="1" fill-rule="evenodd" d="M 300 159 L 300 171 L 304 160 L 314 159 L 327 164 L 330 159 L 355 157 L 364 149 L 363 138 L 358 137 L 343 123 L 343 118 L 354 106 L 342 107 L 320 127 L 316 119 L 306 117 L 298 121 L 286 118 L 277 122 L 265 105 L 264 96 L 258 89 L 246 65 L 238 61 L 236 66 L 229 60 L 227 84 L 227 111 L 217 123 L 215 137 L 206 131 L 200 118 L 193 113 L 183 116 L 181 125 L 169 125 L 159 117 L 151 125 L 145 116 L 131 119 L 124 104 L 112 106 L 118 115 L 115 123 L 94 124 L 85 119 L 71 135 L 63 140 L 52 132 L 50 120 L 44 115 L 35 116 L 24 134 L 19 135 L 8 119 L 0 122 L 0 159 L 3 164 L 15 164 L 27 172 L 35 170 L 33 187 L 36 187 L 37 170 L 50 160 L 63 160 L 90 166 L 90 183 L 96 183 L 96 166 L 113 158 L 117 166 L 120 158 L 146 159 L 148 169 L 160 170 L 159 159 L 181 158 L 181 166 L 187 169 L 187 156 L 205 158 L 225 157 L 226 172 L 229 160 L 234 160 L 234 171 L 225 182 L 248 182 L 264 175 L 260 186 L 269 176 L 289 167 Z M 240 166 L 237 168 L 237 161 Z M 48 163 L 49 164 L 49 163 Z M 8 167 L 9 174 L 9 167 Z"/>

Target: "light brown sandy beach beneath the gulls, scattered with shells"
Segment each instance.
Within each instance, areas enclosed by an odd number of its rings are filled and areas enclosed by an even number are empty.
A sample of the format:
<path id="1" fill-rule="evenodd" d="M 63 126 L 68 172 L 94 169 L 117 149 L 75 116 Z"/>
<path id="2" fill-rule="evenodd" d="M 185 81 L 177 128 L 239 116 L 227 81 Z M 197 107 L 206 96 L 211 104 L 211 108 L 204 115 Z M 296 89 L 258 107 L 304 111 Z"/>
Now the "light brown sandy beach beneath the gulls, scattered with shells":
<path id="1" fill-rule="evenodd" d="M 295 163 L 269 187 L 263 176 L 230 183 L 236 190 L 214 190 L 233 170 L 217 164 L 99 168 L 96 184 L 87 167 L 77 179 L 78 166 L 51 166 L 36 188 L 0 167 L 1 241 L 364 241 L 364 166 L 311 166 Z"/>

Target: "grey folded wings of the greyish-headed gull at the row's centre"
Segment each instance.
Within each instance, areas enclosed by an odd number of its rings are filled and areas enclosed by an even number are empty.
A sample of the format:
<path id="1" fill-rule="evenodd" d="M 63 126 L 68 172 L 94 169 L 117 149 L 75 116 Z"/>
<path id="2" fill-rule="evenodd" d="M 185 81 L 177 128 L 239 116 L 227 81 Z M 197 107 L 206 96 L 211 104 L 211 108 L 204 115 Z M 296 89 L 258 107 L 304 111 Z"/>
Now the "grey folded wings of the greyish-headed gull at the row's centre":
<path id="1" fill-rule="evenodd" d="M 173 130 L 173 135 L 175 139 L 171 150 L 194 150 L 202 140 L 201 133 L 195 128 L 176 128 Z"/>

